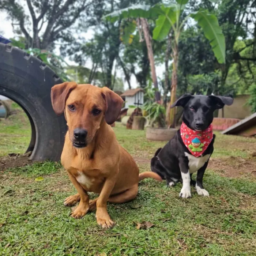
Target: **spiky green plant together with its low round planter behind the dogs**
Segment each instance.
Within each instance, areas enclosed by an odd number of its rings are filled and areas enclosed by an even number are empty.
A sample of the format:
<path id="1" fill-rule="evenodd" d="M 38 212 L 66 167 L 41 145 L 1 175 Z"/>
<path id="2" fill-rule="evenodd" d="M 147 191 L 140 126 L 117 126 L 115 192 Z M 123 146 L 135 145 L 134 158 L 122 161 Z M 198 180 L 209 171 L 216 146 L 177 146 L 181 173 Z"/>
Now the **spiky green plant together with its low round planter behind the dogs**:
<path id="1" fill-rule="evenodd" d="M 167 129 L 165 124 L 165 107 L 155 102 L 155 88 L 150 85 L 145 88 L 145 103 L 143 109 L 147 113 L 148 125 L 146 128 L 146 138 L 148 140 L 170 140 L 177 129 Z"/>

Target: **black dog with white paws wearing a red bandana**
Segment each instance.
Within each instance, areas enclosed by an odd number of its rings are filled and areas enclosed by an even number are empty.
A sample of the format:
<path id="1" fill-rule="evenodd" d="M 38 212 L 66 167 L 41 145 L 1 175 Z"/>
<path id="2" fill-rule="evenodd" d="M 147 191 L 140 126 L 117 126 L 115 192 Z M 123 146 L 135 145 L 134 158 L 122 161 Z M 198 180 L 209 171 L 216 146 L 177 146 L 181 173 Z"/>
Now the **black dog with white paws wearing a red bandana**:
<path id="1" fill-rule="evenodd" d="M 176 135 L 157 150 L 151 159 L 151 170 L 165 179 L 170 187 L 182 181 L 180 197 L 191 197 L 190 185 L 196 187 L 198 195 L 209 196 L 203 188 L 203 175 L 213 152 L 213 113 L 232 103 L 230 97 L 184 94 L 171 106 L 184 108 L 183 123 Z M 196 181 L 191 179 L 194 172 L 197 172 Z"/>

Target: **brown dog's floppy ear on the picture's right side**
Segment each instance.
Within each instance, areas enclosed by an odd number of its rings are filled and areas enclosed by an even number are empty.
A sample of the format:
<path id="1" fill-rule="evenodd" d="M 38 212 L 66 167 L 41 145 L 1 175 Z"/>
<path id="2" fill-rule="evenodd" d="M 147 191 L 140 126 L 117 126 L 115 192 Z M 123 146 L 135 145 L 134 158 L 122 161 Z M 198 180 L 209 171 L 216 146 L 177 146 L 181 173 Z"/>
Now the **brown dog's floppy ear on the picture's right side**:
<path id="1" fill-rule="evenodd" d="M 113 124 L 117 120 L 124 101 L 108 87 L 103 87 L 101 94 L 106 102 L 105 120 L 107 124 Z"/>

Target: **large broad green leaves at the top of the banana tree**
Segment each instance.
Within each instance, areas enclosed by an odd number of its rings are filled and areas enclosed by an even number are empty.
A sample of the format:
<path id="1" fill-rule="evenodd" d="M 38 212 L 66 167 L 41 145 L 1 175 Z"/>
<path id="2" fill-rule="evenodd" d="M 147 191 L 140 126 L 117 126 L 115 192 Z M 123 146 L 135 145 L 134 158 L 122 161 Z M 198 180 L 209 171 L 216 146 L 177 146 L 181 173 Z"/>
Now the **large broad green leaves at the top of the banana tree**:
<path id="1" fill-rule="evenodd" d="M 179 1 L 187 3 L 187 1 Z M 178 43 L 178 37 L 184 26 L 184 21 L 179 23 L 181 11 L 184 5 L 170 4 L 170 5 L 133 5 L 123 10 L 112 12 L 105 16 L 105 18 L 115 21 L 117 18 L 158 18 L 156 20 L 156 27 L 153 31 L 153 39 L 163 40 L 169 34 L 170 29 L 174 31 L 174 40 Z M 212 50 L 217 57 L 219 63 L 225 63 L 225 39 L 222 30 L 219 27 L 218 20 L 213 14 L 208 14 L 204 10 L 197 11 L 186 17 L 194 18 L 198 25 L 202 27 L 206 38 L 210 41 Z M 175 25 L 177 23 L 177 26 Z"/>

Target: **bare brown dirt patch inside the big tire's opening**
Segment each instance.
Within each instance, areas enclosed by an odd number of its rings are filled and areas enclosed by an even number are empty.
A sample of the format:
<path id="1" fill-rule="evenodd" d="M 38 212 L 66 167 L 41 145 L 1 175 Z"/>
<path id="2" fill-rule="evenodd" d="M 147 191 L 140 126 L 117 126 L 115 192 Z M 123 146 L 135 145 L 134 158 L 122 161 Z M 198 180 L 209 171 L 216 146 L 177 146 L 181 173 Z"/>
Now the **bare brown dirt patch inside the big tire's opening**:
<path id="1" fill-rule="evenodd" d="M 16 168 L 32 163 L 29 159 L 31 152 L 26 154 L 9 154 L 7 157 L 0 157 L 0 172 L 9 168 Z"/>

